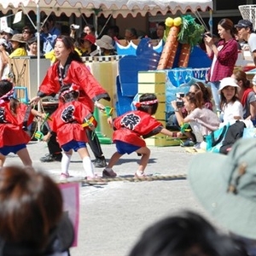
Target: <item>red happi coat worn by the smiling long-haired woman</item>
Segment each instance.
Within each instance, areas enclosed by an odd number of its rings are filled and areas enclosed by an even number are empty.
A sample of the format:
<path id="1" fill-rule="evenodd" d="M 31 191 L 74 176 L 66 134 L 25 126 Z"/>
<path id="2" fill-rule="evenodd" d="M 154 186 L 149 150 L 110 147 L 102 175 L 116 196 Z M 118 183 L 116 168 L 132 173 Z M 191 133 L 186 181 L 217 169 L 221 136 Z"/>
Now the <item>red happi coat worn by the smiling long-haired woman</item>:
<path id="1" fill-rule="evenodd" d="M 60 82 L 59 78 L 59 61 L 52 67 L 49 67 L 42 84 L 39 87 L 39 96 L 55 95 L 61 90 L 61 84 L 78 84 L 79 102 L 83 102 L 90 112 L 93 113 L 94 102 L 100 99 L 110 101 L 108 92 L 102 88 L 102 85 L 94 78 L 84 63 L 71 61 L 67 68 L 65 78 Z"/>

